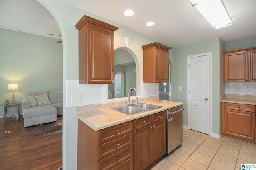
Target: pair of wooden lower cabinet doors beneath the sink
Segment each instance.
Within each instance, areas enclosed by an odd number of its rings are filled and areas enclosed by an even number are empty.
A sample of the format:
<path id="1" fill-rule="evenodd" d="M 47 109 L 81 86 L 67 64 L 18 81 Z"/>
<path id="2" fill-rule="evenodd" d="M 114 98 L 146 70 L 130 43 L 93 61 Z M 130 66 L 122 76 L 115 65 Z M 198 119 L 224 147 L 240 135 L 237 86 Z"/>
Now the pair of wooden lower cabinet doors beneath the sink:
<path id="1" fill-rule="evenodd" d="M 134 170 L 143 170 L 166 154 L 166 120 L 134 132 Z"/>

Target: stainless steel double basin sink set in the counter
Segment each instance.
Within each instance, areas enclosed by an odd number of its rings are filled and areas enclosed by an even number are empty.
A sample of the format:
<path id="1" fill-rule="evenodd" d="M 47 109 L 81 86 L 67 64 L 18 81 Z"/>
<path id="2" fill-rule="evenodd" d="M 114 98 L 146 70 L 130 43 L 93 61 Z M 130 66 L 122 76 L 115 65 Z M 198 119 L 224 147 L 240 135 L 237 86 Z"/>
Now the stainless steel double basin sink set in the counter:
<path id="1" fill-rule="evenodd" d="M 157 106 L 154 104 L 145 104 L 145 103 L 140 103 L 136 105 L 128 105 L 128 106 L 121 106 L 121 107 L 114 107 L 110 108 L 115 111 L 119 111 L 121 113 L 125 113 L 127 115 L 134 115 L 137 113 L 143 113 L 145 111 L 150 111 L 154 109 L 159 109 L 163 106 Z"/>

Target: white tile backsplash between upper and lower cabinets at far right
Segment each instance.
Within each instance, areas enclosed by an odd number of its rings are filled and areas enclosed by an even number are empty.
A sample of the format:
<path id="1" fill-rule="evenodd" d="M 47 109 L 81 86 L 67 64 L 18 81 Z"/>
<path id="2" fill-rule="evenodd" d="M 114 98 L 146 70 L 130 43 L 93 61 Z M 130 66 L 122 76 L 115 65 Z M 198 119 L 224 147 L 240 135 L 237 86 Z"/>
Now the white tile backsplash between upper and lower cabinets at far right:
<path id="1" fill-rule="evenodd" d="M 225 83 L 225 93 L 256 96 L 256 83 Z"/>

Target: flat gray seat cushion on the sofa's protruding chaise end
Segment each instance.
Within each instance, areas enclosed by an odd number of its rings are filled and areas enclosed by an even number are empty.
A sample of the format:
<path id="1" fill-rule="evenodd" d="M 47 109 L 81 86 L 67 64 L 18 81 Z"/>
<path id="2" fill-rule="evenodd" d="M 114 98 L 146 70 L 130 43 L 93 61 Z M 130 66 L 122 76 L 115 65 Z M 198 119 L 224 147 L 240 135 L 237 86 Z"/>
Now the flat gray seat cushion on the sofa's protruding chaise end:
<path id="1" fill-rule="evenodd" d="M 23 110 L 23 117 L 30 118 L 30 117 L 38 117 L 38 116 L 45 116 L 45 115 L 52 115 L 56 114 L 57 109 L 50 104 L 42 105 L 42 106 L 34 106 L 29 109 Z"/>

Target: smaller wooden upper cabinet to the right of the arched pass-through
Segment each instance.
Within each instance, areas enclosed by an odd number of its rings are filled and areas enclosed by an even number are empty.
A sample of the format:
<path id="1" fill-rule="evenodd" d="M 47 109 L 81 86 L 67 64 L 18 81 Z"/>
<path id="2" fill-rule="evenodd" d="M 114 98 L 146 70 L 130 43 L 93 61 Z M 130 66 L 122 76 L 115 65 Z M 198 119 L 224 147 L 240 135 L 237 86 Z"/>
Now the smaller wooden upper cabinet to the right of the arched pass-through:
<path id="1" fill-rule="evenodd" d="M 169 50 L 160 43 L 143 45 L 143 82 L 169 82 Z"/>

